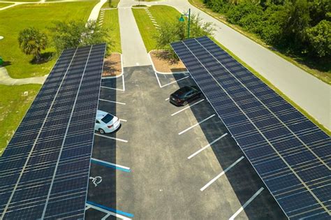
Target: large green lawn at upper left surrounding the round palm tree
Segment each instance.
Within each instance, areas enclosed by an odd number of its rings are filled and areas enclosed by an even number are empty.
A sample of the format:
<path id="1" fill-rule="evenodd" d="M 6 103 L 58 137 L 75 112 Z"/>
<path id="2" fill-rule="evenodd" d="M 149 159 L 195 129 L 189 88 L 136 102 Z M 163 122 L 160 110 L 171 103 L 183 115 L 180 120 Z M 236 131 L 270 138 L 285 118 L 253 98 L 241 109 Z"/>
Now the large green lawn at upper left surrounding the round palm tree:
<path id="1" fill-rule="evenodd" d="M 25 55 L 18 47 L 17 37 L 22 29 L 36 27 L 50 34 L 46 27 L 53 21 L 86 21 L 96 2 L 43 3 L 15 6 L 0 11 L 0 56 L 12 78 L 28 78 L 45 75 L 54 66 L 57 57 L 45 64 L 31 64 L 32 56 Z M 51 39 L 49 39 L 51 41 Z M 52 47 L 43 52 L 54 52 Z"/>

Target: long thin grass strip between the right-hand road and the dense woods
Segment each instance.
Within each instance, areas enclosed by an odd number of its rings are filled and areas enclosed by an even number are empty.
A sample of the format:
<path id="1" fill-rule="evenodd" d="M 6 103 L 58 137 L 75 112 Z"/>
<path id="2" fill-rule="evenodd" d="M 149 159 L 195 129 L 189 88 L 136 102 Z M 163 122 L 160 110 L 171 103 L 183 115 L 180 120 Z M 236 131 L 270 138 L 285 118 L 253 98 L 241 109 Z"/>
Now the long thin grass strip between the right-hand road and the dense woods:
<path id="1" fill-rule="evenodd" d="M 266 45 L 256 34 L 249 33 L 247 31 L 244 31 L 242 27 L 235 25 L 235 24 L 229 24 L 226 22 L 226 17 L 224 15 L 221 15 L 220 13 L 215 13 L 210 8 L 207 8 L 205 4 L 203 3 L 203 0 L 189 0 L 189 3 L 191 3 L 193 6 L 196 6 L 200 10 L 203 10 L 205 13 L 211 15 L 215 19 L 219 20 L 220 22 L 223 22 L 224 24 L 228 25 L 229 27 L 235 29 L 236 31 L 240 32 L 244 36 L 247 36 L 248 38 L 251 38 L 251 40 L 255 41 L 256 43 L 263 45 L 263 47 L 266 47 L 270 50 L 272 48 L 270 45 Z M 277 50 L 271 50 L 275 54 L 279 55 L 279 57 L 282 57 L 283 59 L 286 59 L 290 63 L 294 64 L 295 66 L 302 68 L 307 73 L 310 73 L 311 75 L 314 75 L 319 80 L 322 80 L 323 82 L 328 83 L 331 85 L 331 62 L 330 61 L 323 61 L 321 64 L 316 63 L 316 61 L 304 58 L 302 57 L 295 57 L 291 54 L 286 54 L 286 52 L 281 52 Z"/>

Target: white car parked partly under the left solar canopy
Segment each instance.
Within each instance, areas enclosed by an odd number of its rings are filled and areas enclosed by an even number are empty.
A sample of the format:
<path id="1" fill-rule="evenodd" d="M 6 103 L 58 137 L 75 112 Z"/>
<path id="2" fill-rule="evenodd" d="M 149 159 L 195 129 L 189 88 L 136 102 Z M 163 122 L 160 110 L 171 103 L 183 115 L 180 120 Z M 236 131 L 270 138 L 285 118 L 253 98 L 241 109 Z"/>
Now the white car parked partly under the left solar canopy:
<path id="1" fill-rule="evenodd" d="M 100 133 L 111 133 L 116 131 L 120 125 L 119 118 L 115 115 L 101 110 L 96 112 L 96 124 L 94 130 Z"/>

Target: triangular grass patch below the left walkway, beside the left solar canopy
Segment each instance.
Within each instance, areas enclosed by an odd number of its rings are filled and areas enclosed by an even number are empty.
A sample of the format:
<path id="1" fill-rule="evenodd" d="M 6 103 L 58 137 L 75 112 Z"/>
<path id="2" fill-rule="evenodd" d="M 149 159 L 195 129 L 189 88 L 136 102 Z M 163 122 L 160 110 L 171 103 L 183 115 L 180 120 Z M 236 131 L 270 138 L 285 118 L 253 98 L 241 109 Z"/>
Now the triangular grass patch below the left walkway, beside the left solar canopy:
<path id="1" fill-rule="evenodd" d="M 0 155 L 20 124 L 41 85 L 0 85 Z M 23 96 L 28 91 L 28 96 Z"/>

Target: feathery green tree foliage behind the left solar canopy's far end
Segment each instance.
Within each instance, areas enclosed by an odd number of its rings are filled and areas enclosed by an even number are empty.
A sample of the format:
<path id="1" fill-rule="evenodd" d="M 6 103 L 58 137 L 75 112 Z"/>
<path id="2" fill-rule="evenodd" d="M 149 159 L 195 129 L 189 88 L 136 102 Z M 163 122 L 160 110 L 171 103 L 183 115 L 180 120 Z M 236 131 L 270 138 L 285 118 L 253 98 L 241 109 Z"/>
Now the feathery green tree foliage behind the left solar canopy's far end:
<path id="1" fill-rule="evenodd" d="M 108 45 L 112 44 L 108 39 L 108 29 L 103 29 L 95 21 L 85 24 L 82 21 L 72 20 L 69 22 L 54 22 L 53 24 L 54 26 L 49 29 L 52 32 L 52 40 L 57 52 L 106 41 Z"/>

